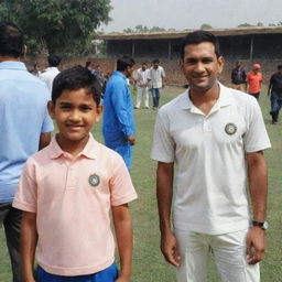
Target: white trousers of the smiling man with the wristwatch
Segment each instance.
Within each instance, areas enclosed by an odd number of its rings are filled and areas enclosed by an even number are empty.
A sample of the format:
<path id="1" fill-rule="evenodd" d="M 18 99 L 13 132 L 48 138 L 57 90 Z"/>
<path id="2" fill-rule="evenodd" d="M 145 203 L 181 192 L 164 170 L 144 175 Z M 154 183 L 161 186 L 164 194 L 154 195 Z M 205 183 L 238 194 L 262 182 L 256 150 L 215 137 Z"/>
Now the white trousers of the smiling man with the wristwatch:
<path id="1" fill-rule="evenodd" d="M 246 259 L 248 230 L 225 235 L 204 235 L 174 230 L 181 267 L 176 269 L 177 282 L 207 281 L 208 256 L 213 251 L 221 282 L 259 282 L 259 263 L 250 265 Z"/>

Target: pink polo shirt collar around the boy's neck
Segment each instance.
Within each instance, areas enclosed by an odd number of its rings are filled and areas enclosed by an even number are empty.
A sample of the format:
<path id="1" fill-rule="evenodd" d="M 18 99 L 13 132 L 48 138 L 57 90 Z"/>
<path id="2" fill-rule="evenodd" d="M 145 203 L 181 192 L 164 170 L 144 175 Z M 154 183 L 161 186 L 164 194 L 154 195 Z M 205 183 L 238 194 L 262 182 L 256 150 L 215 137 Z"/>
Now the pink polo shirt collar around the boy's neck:
<path id="1" fill-rule="evenodd" d="M 97 159 L 98 154 L 98 142 L 94 139 L 93 134 L 89 133 L 89 139 L 84 148 L 84 150 L 79 153 L 79 155 L 84 155 L 88 159 Z M 50 158 L 58 159 L 59 156 L 66 156 L 68 153 L 64 152 L 62 148 L 58 145 L 56 137 L 52 138 L 52 141 L 48 145 Z"/>

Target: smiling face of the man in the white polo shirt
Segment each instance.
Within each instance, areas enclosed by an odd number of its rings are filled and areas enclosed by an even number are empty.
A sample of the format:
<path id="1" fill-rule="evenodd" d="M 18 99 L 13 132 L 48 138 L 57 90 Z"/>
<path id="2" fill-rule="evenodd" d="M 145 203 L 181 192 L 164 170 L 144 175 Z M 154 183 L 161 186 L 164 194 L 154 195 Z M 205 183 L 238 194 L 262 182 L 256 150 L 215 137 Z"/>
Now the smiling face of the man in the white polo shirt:
<path id="1" fill-rule="evenodd" d="M 223 72 L 224 58 L 216 56 L 213 43 L 202 42 L 185 46 L 181 66 L 191 90 L 206 93 L 217 83 L 217 76 Z"/>

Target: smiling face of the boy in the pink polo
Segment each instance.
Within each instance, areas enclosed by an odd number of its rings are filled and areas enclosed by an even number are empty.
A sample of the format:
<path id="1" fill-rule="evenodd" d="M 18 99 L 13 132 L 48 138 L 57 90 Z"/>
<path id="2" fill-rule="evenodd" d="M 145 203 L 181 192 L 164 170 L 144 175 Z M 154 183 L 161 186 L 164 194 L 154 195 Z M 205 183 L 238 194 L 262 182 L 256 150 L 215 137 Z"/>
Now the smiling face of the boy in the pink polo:
<path id="1" fill-rule="evenodd" d="M 100 119 L 102 107 L 97 106 L 85 88 L 80 88 L 64 90 L 55 105 L 52 101 L 48 102 L 48 111 L 51 118 L 57 123 L 59 144 L 69 145 L 87 142 L 94 123 Z"/>

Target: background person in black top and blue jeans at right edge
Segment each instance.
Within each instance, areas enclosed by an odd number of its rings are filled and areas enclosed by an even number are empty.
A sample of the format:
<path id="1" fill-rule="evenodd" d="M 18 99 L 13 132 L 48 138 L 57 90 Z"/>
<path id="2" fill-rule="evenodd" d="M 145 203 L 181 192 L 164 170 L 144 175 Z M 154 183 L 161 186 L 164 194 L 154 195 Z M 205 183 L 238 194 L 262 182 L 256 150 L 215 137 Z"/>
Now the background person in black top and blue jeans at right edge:
<path id="1" fill-rule="evenodd" d="M 270 78 L 268 96 L 270 94 L 270 115 L 272 116 L 272 124 L 275 124 L 278 123 L 279 111 L 282 107 L 282 65 L 278 66 L 278 72 Z"/>

